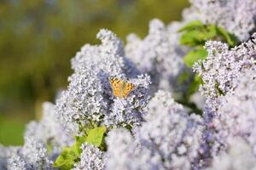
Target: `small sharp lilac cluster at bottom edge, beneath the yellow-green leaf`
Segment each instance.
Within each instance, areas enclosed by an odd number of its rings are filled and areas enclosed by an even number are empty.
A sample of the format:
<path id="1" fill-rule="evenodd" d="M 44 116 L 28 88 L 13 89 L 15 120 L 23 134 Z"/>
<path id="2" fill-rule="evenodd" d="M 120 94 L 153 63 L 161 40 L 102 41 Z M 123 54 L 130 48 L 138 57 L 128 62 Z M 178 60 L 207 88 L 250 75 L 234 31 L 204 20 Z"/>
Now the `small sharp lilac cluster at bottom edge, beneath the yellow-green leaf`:
<path id="1" fill-rule="evenodd" d="M 107 156 L 102 150 L 90 144 L 82 144 L 80 161 L 74 164 L 73 170 L 102 170 L 105 169 Z"/>

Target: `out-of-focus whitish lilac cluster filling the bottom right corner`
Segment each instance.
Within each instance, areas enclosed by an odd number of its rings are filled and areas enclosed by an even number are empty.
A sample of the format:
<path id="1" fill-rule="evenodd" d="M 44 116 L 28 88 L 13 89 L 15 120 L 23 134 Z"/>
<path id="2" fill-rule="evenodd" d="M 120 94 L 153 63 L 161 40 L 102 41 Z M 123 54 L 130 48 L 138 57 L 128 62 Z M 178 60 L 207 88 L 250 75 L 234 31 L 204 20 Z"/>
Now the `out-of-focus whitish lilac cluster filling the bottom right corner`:
<path id="1" fill-rule="evenodd" d="M 211 167 L 207 170 L 253 170 L 256 169 L 256 158 L 247 141 L 241 138 L 231 138 L 229 148 L 219 156 L 214 156 Z"/>

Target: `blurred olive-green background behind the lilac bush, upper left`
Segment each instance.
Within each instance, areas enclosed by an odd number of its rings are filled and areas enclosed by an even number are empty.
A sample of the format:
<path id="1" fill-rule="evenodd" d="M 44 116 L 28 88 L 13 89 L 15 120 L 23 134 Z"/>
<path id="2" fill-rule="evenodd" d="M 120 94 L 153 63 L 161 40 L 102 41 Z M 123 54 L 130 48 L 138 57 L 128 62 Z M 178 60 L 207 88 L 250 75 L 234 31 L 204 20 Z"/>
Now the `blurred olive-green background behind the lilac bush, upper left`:
<path id="1" fill-rule="evenodd" d="M 22 144 L 41 104 L 67 87 L 70 59 L 100 28 L 145 37 L 154 18 L 180 20 L 187 0 L 1 0 L 0 144 Z"/>

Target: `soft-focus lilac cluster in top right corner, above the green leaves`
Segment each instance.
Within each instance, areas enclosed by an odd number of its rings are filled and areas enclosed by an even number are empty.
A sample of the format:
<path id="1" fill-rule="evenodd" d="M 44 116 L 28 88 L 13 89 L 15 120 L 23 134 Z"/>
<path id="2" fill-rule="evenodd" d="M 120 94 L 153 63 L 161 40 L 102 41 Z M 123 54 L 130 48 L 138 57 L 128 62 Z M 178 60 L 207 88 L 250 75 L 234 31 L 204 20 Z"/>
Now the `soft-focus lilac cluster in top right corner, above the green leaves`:
<path id="1" fill-rule="evenodd" d="M 255 0 L 190 0 L 185 20 L 201 20 L 205 24 L 223 27 L 245 41 L 256 25 Z"/>

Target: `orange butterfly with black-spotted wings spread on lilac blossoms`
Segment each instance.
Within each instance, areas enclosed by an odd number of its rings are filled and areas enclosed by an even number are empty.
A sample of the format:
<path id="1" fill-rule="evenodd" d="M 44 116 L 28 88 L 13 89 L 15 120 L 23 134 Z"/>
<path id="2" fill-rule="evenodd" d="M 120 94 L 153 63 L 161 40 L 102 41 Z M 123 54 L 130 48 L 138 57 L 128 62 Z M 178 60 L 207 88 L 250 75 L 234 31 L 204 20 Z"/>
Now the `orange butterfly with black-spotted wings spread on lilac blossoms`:
<path id="1" fill-rule="evenodd" d="M 109 77 L 109 82 L 113 90 L 113 95 L 119 98 L 126 98 L 128 94 L 136 88 L 135 84 L 121 80 L 117 77 Z"/>

